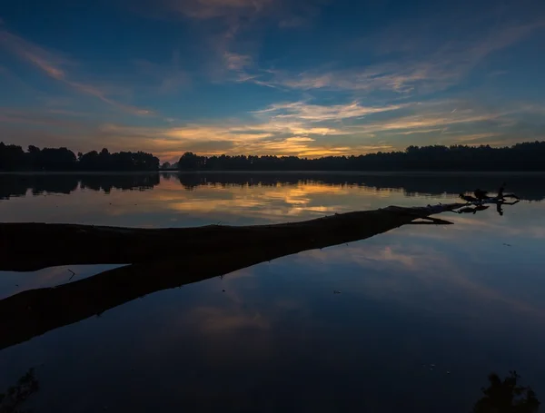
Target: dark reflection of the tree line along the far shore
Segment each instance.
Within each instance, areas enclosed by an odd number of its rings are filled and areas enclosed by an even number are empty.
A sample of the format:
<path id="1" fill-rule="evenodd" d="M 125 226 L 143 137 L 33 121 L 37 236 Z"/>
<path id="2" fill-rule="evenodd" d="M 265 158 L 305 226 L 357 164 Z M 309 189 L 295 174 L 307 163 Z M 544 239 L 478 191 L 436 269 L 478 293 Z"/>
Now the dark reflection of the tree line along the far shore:
<path id="1" fill-rule="evenodd" d="M 87 174 L 0 174 L 0 199 L 44 193 L 69 194 L 78 188 L 103 191 L 151 190 L 164 181 L 175 180 L 186 190 L 203 186 L 294 186 L 320 184 L 335 187 L 367 187 L 380 191 L 399 190 L 406 196 L 419 194 L 441 195 L 460 193 L 479 185 L 495 189 L 502 181 L 509 182 L 509 191 L 516 192 L 522 200 L 541 201 L 545 197 L 541 173 L 420 173 L 420 174 L 354 174 L 349 172 L 208 172 L 208 173 L 87 173 Z"/>

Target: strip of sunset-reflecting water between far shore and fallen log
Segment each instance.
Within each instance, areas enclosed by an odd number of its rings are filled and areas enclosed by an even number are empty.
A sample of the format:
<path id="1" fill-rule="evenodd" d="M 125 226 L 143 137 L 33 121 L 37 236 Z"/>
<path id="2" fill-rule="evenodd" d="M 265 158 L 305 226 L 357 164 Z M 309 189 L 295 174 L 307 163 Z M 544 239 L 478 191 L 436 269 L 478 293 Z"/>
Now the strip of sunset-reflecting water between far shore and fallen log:
<path id="1" fill-rule="evenodd" d="M 12 201 L 0 202 L 3 221 L 138 227 L 296 221 L 388 204 L 458 202 L 460 192 L 476 186 L 493 190 L 503 181 L 508 182 L 509 191 L 519 194 L 523 202 L 545 197 L 545 175 L 540 174 L 507 177 L 318 172 L 0 174 L 0 181 L 0 198 Z M 39 196 L 31 200 L 25 198 L 27 192 L 28 196 L 33 193 L 63 196 Z M 70 193 L 77 196 L 64 196 Z M 500 212 L 509 216 L 511 210 L 505 208 Z"/>

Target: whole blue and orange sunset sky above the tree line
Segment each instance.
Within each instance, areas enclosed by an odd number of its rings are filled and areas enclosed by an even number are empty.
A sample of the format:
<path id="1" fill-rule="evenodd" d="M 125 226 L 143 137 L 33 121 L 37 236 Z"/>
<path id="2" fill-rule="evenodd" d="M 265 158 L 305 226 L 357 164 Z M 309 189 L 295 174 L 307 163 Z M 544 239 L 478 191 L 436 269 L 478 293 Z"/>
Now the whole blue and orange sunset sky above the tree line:
<path id="1" fill-rule="evenodd" d="M 317 157 L 545 140 L 542 0 L 20 0 L 0 141 Z"/>

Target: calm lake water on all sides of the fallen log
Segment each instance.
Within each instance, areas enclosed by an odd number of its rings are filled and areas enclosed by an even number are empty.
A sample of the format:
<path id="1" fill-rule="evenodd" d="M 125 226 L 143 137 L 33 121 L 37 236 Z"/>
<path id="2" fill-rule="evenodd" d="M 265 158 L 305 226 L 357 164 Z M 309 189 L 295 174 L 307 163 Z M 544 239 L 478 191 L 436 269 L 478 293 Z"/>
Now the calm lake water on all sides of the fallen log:
<path id="1" fill-rule="evenodd" d="M 463 412 L 490 371 L 516 369 L 544 401 L 545 176 L 0 175 L 0 220 L 299 221 L 452 202 L 503 179 L 523 201 L 502 216 L 442 214 L 455 225 L 409 225 L 163 290 L 0 350 L 0 390 L 35 367 L 36 413 Z M 69 268 L 79 280 L 113 266 Z M 71 275 L 1 272 L 0 299 Z"/>

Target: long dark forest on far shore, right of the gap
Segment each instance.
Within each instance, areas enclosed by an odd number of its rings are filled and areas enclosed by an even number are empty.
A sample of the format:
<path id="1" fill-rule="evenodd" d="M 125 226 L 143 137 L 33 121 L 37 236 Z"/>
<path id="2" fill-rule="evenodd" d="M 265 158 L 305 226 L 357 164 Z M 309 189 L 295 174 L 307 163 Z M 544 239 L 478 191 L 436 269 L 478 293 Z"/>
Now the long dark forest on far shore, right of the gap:
<path id="1" fill-rule="evenodd" d="M 409 146 L 359 156 L 198 156 L 185 152 L 181 171 L 545 171 L 545 141 L 511 147 Z"/>

